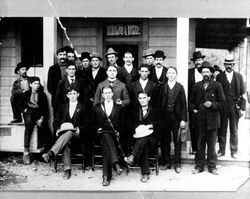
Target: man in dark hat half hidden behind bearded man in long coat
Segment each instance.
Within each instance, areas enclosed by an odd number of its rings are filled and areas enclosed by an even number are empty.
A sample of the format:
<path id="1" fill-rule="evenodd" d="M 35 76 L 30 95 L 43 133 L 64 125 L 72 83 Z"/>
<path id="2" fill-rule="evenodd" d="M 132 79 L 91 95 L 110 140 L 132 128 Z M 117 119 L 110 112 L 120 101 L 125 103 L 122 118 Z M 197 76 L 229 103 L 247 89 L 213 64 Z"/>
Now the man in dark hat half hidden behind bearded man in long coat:
<path id="1" fill-rule="evenodd" d="M 193 58 L 191 59 L 191 61 L 194 62 L 194 68 L 188 69 L 188 100 L 191 97 L 191 92 L 194 84 L 203 79 L 198 69 L 201 67 L 204 58 L 205 55 L 202 55 L 200 51 L 193 53 Z M 193 113 L 189 113 L 189 126 L 190 126 L 191 142 L 192 142 L 191 154 L 193 155 L 195 155 L 197 150 L 197 135 L 195 129 L 196 121 L 194 120 L 194 118 L 195 116 L 193 115 Z"/>

